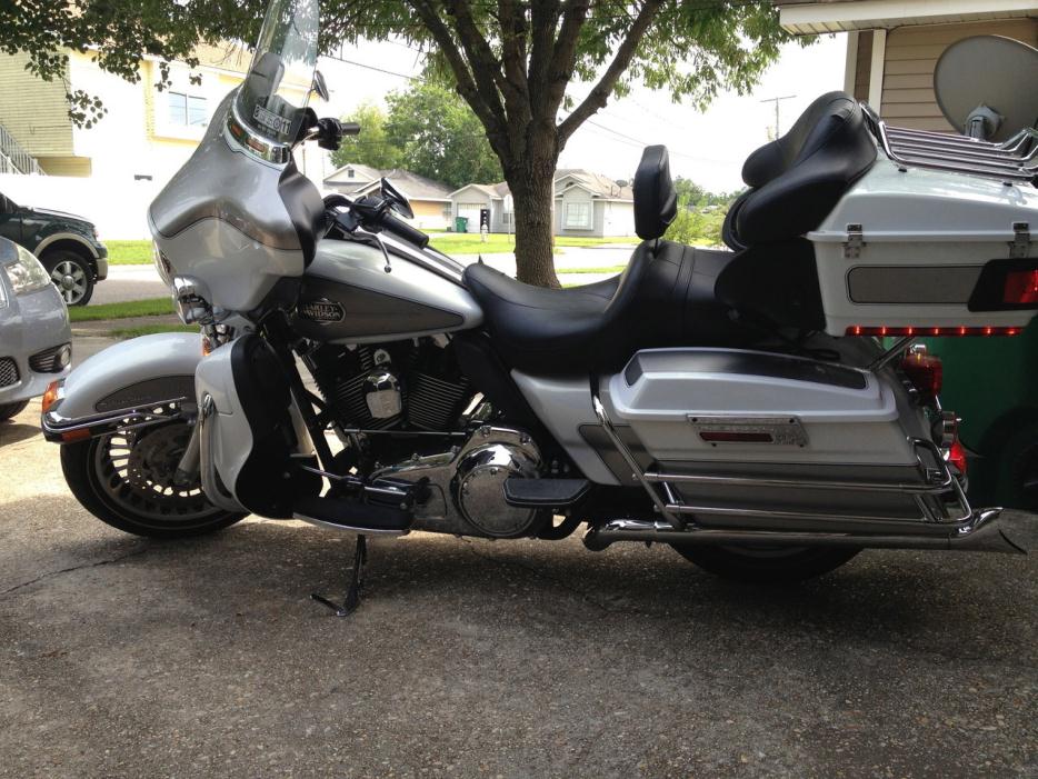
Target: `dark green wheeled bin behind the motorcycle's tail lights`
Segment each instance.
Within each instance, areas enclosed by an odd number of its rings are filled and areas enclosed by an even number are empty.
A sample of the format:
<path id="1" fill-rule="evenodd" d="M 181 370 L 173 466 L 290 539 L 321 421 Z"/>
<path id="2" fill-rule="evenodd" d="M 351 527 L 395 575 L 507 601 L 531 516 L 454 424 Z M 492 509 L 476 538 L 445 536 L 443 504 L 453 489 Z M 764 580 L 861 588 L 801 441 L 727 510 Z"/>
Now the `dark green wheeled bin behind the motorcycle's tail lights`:
<path id="1" fill-rule="evenodd" d="M 962 418 L 969 497 L 1038 511 L 1038 319 L 1014 338 L 930 338 L 941 402 Z"/>

